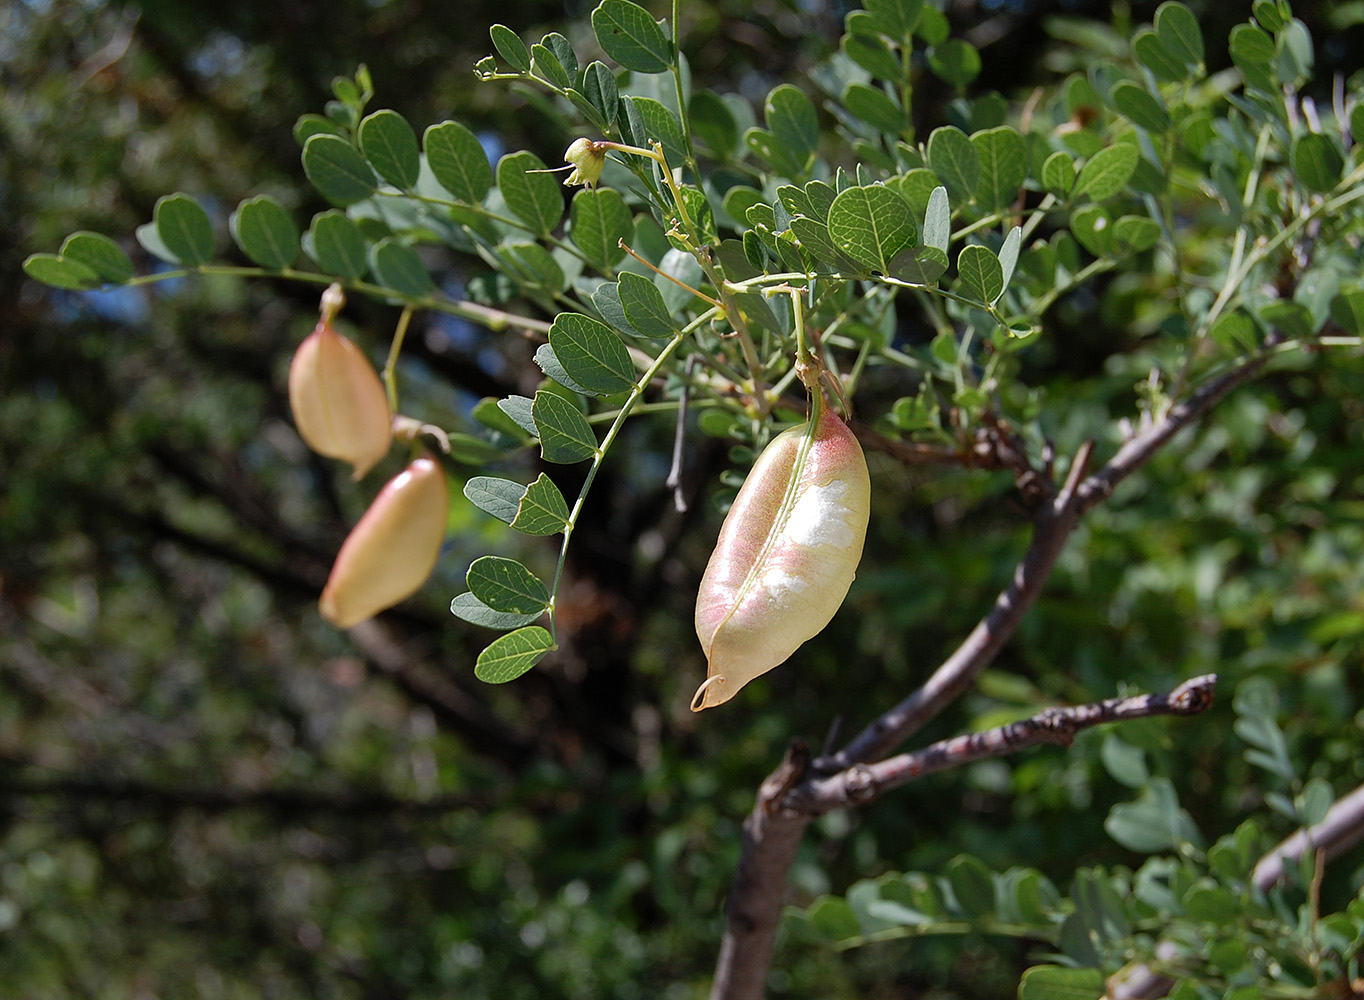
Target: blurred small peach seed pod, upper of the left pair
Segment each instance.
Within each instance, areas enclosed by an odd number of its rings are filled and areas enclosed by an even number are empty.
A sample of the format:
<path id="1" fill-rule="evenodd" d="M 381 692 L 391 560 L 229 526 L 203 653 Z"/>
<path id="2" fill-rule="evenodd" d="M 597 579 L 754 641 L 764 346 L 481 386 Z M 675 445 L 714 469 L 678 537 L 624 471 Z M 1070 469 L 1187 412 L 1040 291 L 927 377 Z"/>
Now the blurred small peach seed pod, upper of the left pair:
<path id="1" fill-rule="evenodd" d="M 289 363 L 289 408 L 299 437 L 318 454 L 353 467 L 353 479 L 389 453 L 389 397 L 364 353 L 322 319 Z"/>

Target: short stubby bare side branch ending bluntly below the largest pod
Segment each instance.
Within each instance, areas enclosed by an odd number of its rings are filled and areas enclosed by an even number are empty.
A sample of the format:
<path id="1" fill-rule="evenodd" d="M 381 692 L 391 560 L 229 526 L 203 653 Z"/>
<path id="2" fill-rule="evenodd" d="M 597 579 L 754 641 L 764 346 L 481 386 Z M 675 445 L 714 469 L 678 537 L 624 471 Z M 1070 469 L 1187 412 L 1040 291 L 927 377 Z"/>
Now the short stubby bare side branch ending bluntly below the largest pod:
<path id="1" fill-rule="evenodd" d="M 1003 757 L 1041 744 L 1069 746 L 1076 733 L 1105 722 L 1157 715 L 1198 715 L 1211 708 L 1215 685 L 1217 674 L 1203 674 L 1162 694 L 1136 694 L 1072 708 L 1048 708 L 1030 719 L 943 739 L 914 753 L 902 753 L 876 764 L 855 764 L 832 778 L 805 782 L 792 790 L 786 808 L 813 817 L 831 809 L 865 805 L 917 778 L 988 757 Z"/>

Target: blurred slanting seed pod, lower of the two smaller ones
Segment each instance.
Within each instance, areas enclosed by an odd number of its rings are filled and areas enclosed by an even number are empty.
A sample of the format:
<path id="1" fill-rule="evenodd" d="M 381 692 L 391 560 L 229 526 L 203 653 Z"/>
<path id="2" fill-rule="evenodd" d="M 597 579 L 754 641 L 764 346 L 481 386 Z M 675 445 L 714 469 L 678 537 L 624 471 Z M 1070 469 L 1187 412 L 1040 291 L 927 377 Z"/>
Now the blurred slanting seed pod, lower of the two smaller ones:
<path id="1" fill-rule="evenodd" d="M 318 600 L 338 629 L 415 593 L 441 554 L 450 490 L 435 458 L 417 458 L 385 484 L 337 553 Z"/>

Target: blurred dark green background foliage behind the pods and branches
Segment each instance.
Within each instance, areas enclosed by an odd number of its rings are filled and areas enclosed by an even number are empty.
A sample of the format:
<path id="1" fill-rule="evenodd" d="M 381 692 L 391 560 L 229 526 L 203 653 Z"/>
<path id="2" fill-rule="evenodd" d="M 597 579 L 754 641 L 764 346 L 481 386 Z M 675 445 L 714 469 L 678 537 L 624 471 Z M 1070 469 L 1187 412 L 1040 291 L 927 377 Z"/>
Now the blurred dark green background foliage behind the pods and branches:
<path id="1" fill-rule="evenodd" d="M 1194 7 L 1217 68 L 1247 11 Z M 1359 7 L 1294 8 L 1323 86 L 1364 61 Z M 490 547 L 465 505 L 417 599 L 349 634 L 316 615 L 368 492 L 288 420 L 312 291 L 214 278 L 61 293 L 22 276 L 23 256 L 74 229 L 127 237 L 173 190 L 220 221 L 262 191 L 299 216 L 325 207 L 291 127 L 361 61 L 375 106 L 457 117 L 492 151 L 554 162 L 566 136 L 471 70 L 487 25 L 578 40 L 589 8 L 0 7 L 0 996 L 701 996 L 738 824 L 786 741 L 818 745 L 836 716 L 857 727 L 903 696 L 1012 572 L 1026 518 L 1007 477 L 872 456 L 869 558 L 844 611 L 732 705 L 693 716 L 692 595 L 726 458 L 692 437 L 693 505 L 677 514 L 670 422 L 637 422 L 578 528 L 565 649 L 487 688 L 472 677 L 480 637 L 446 611 Z M 1151 10 L 966 0 L 949 15 L 983 52 L 978 86 L 1022 101 L 1073 68 L 1057 40 L 1102 57 L 1105 26 L 1125 37 Z M 686 3 L 681 38 L 698 87 L 760 101 L 827 55 L 843 12 Z M 915 115 L 936 124 L 951 97 L 926 86 Z M 1133 415 L 1151 364 L 1140 303 L 1098 285 L 1057 310 L 1028 381 L 1065 415 L 1049 428 L 1063 453 Z M 393 312 L 353 302 L 345 318 L 378 356 Z M 475 400 L 533 389 L 532 345 L 423 322 L 404 372 L 413 415 L 468 430 Z M 1252 816 L 1288 832 L 1230 734 L 1243 679 L 1278 688 L 1303 776 L 1338 793 L 1364 780 L 1361 400 L 1360 352 L 1305 356 L 1183 435 L 1088 517 L 1019 640 L 926 737 L 1215 670 L 1210 716 L 1123 730 L 1204 836 Z M 880 415 L 874 385 L 858 405 Z M 1133 794 L 1105 772 L 1103 738 L 825 817 L 794 900 L 960 851 L 1063 885 L 1078 865 L 1138 861 L 1103 832 Z M 1361 880 L 1356 853 L 1324 894 Z M 792 939 L 771 992 L 1011 996 L 1026 962 L 974 937 L 846 955 Z"/>

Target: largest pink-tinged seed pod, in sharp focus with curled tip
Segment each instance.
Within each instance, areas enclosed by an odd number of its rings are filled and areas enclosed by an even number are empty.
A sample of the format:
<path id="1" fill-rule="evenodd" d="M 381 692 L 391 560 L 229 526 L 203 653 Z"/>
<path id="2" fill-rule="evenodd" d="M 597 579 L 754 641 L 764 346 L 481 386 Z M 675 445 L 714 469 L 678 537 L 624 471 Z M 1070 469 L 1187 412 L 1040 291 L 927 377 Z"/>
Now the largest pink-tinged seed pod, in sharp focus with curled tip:
<path id="1" fill-rule="evenodd" d="M 696 634 L 709 664 L 692 711 L 713 708 L 818 634 L 857 573 L 872 508 L 853 431 L 820 407 L 758 456 L 701 577 Z"/>

